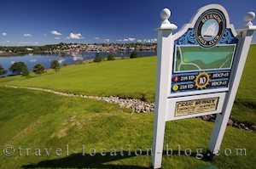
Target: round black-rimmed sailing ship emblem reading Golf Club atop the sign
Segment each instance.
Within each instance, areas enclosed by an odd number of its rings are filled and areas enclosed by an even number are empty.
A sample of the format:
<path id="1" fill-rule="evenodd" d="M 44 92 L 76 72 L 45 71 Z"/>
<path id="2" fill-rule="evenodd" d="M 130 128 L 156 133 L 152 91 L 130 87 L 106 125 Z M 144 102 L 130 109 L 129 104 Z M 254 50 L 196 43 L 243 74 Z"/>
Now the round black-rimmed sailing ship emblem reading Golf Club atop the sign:
<path id="1" fill-rule="evenodd" d="M 204 48 L 219 42 L 224 32 L 224 18 L 216 11 L 203 14 L 196 25 L 196 40 Z"/>

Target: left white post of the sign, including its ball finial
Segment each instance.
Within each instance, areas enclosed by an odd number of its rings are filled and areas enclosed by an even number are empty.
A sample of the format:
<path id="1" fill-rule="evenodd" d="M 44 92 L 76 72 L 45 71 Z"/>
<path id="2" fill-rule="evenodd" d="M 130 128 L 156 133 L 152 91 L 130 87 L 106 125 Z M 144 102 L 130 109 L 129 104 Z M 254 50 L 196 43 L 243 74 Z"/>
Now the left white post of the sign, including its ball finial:
<path id="1" fill-rule="evenodd" d="M 177 29 L 177 25 L 171 24 L 168 20 L 171 16 L 171 11 L 164 8 L 160 14 L 163 20 L 158 29 L 158 43 L 157 43 L 157 81 L 156 81 L 156 95 L 155 95 L 155 109 L 154 109 L 154 149 L 153 149 L 153 163 L 155 167 L 161 166 L 162 151 L 166 127 L 166 109 L 168 93 L 169 78 L 161 78 L 166 76 L 166 72 L 170 71 L 171 67 L 166 63 L 171 63 L 170 57 L 173 53 L 172 46 L 172 31 Z"/>

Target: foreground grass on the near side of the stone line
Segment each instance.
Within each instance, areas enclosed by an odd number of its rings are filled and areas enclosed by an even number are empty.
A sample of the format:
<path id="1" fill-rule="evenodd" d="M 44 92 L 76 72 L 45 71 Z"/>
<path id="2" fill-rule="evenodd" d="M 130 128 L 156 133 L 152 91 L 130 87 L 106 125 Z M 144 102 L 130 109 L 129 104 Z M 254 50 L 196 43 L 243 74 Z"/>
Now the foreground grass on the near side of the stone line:
<path id="1" fill-rule="evenodd" d="M 0 88 L 0 145 L 12 144 L 17 148 L 65 149 L 69 144 L 73 150 L 85 153 L 90 148 L 119 149 L 124 147 L 125 156 L 81 154 L 60 157 L 50 154 L 37 157 L 32 154 L 12 157 L 0 155 L 0 168 L 26 167 L 94 167 L 94 168 L 148 168 L 150 156 L 127 156 L 129 148 L 150 149 L 153 137 L 153 114 L 131 115 L 128 110 L 115 104 L 79 98 L 67 98 L 51 93 L 22 89 Z M 38 109 L 40 108 L 40 109 Z M 7 120 L 8 119 L 8 120 Z M 213 123 L 198 119 L 171 121 L 166 123 L 165 144 L 174 150 L 174 155 L 163 158 L 163 168 L 195 168 L 218 166 L 218 168 L 253 168 L 255 160 L 255 139 L 252 132 L 227 127 L 222 149 L 238 146 L 247 149 L 247 156 L 224 156 L 218 161 L 197 160 L 195 157 L 177 155 L 177 144 L 181 149 L 207 149 Z M 129 147 L 130 145 L 130 147 Z M 119 152 L 119 150 L 117 150 Z M 39 162 L 39 163 L 38 163 Z M 126 166 L 126 167 L 125 167 Z M 137 167 L 136 167 L 137 166 Z"/>

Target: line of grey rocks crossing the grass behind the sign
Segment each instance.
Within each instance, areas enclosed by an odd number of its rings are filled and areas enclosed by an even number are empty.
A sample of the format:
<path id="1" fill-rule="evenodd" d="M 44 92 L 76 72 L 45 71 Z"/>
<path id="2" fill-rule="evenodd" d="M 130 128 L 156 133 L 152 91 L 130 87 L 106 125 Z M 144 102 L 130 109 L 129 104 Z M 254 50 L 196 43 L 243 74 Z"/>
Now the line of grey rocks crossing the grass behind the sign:
<path id="1" fill-rule="evenodd" d="M 79 98 L 87 98 L 87 99 L 96 99 L 96 100 L 102 100 L 108 103 L 112 104 L 119 104 L 120 107 L 125 107 L 128 109 L 131 109 L 131 113 L 146 113 L 146 112 L 154 112 L 154 104 L 144 102 L 143 100 L 140 99 L 122 99 L 119 97 L 115 96 L 87 96 L 84 94 L 74 94 L 74 93 L 61 93 L 61 92 L 56 92 L 50 89 L 45 89 L 45 88 L 38 88 L 38 87 L 16 87 L 16 86 L 11 86 L 11 85 L 3 85 L 3 87 L 12 87 L 12 88 L 23 88 L 23 89 L 28 89 L 28 90 L 38 90 L 38 91 L 43 91 L 43 92 L 48 92 L 48 93 L 55 93 L 59 94 L 62 96 L 68 96 L 68 97 L 79 97 Z M 203 121 L 215 121 L 216 115 L 203 115 L 203 116 L 198 116 L 195 117 L 197 119 L 201 119 Z M 237 127 L 240 129 L 244 129 L 247 131 L 251 132 L 256 132 L 256 126 L 252 125 L 249 126 L 245 123 L 236 121 L 232 115 L 230 115 L 230 119 L 228 121 L 228 125 L 232 127 Z"/>

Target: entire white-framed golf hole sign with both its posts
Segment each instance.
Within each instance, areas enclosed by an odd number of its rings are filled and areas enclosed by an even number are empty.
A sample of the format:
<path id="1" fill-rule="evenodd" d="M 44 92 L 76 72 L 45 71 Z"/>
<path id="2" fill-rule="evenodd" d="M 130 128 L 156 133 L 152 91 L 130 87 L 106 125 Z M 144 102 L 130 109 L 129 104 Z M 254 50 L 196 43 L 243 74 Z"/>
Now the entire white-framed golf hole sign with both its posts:
<path id="1" fill-rule="evenodd" d="M 218 155 L 256 25 L 244 16 L 241 30 L 224 7 L 210 4 L 172 35 L 177 25 L 164 8 L 158 28 L 153 166 L 161 167 L 166 121 L 217 114 L 208 149 Z"/>

